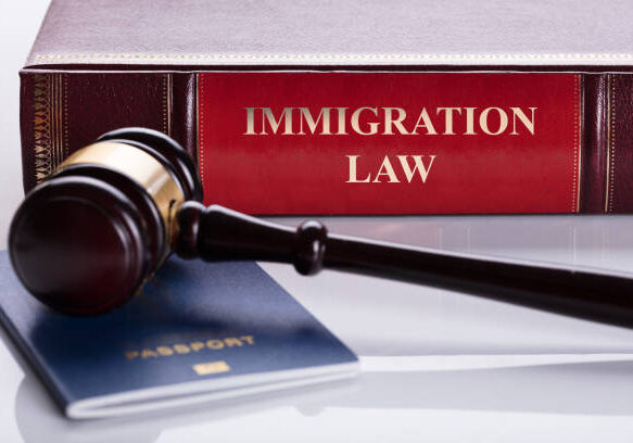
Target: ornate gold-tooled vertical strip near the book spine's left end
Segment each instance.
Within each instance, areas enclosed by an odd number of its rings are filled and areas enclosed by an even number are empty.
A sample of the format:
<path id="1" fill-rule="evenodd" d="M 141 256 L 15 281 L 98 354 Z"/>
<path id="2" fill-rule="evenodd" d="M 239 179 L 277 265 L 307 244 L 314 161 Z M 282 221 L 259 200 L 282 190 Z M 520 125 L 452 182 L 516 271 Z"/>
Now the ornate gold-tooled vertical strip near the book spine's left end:
<path id="1" fill-rule="evenodd" d="M 63 74 L 34 75 L 34 172 L 37 183 L 68 153 L 67 78 Z"/>

